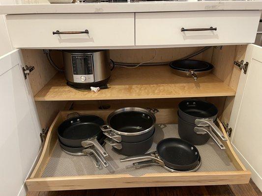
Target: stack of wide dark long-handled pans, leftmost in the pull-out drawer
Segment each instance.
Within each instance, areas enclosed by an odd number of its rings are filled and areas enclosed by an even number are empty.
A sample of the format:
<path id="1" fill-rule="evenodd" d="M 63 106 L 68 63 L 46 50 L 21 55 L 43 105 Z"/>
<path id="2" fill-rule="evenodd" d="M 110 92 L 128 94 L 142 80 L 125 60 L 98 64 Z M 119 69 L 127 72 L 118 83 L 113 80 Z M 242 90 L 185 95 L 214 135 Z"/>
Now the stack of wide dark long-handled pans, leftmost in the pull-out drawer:
<path id="1" fill-rule="evenodd" d="M 100 129 L 103 124 L 103 119 L 98 116 L 69 114 L 68 119 L 58 126 L 59 144 L 68 154 L 88 155 L 96 167 L 99 167 L 100 163 L 107 167 L 104 157 L 107 157 L 108 153 L 102 147 L 105 137 Z"/>

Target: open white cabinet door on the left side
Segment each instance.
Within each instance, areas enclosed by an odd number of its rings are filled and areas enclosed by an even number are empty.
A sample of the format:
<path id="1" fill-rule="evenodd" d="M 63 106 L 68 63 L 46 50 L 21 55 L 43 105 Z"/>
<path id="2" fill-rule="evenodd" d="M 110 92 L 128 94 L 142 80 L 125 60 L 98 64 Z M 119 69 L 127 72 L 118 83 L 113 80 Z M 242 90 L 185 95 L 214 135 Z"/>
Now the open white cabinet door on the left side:
<path id="1" fill-rule="evenodd" d="M 20 50 L 0 56 L 0 195 L 25 195 L 24 182 L 39 152 L 40 125 L 25 80 Z"/>

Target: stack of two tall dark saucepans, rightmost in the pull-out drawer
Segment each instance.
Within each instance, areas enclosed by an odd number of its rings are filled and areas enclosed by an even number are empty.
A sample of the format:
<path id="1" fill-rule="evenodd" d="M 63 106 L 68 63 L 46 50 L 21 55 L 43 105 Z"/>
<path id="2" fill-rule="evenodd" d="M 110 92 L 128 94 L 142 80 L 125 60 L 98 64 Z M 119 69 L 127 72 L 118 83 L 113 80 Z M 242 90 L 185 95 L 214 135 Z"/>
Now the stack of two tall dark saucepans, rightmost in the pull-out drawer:
<path id="1" fill-rule="evenodd" d="M 178 104 L 178 134 L 181 139 L 194 145 L 203 145 L 209 138 L 221 148 L 220 141 L 227 141 L 215 125 L 218 110 L 210 102 L 199 99 L 187 99 Z M 219 139 L 220 138 L 220 139 Z"/>

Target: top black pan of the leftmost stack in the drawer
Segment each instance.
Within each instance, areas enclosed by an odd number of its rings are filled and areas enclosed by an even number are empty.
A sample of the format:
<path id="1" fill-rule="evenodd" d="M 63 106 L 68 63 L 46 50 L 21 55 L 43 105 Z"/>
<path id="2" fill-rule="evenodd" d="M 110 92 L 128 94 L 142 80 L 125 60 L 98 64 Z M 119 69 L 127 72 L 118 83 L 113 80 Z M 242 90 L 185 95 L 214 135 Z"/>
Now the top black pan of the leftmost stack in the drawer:
<path id="1" fill-rule="evenodd" d="M 100 129 L 100 126 L 103 124 L 103 119 L 98 116 L 77 114 L 76 117 L 68 118 L 58 126 L 58 137 L 60 142 L 65 146 L 94 146 L 104 157 L 106 157 L 108 153 L 98 142 L 98 140 L 103 137 L 103 132 Z"/>

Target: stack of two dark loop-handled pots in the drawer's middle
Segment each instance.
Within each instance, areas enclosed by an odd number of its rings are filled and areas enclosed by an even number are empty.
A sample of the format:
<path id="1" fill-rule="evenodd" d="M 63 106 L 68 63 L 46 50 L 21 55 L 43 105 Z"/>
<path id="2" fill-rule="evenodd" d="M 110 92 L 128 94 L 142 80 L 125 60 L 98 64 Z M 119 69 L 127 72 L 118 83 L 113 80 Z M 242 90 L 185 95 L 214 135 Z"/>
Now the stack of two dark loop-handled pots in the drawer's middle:
<path id="1" fill-rule="evenodd" d="M 156 109 L 125 107 L 112 112 L 107 124 L 100 126 L 104 141 L 126 156 L 145 153 L 153 143 Z"/>

